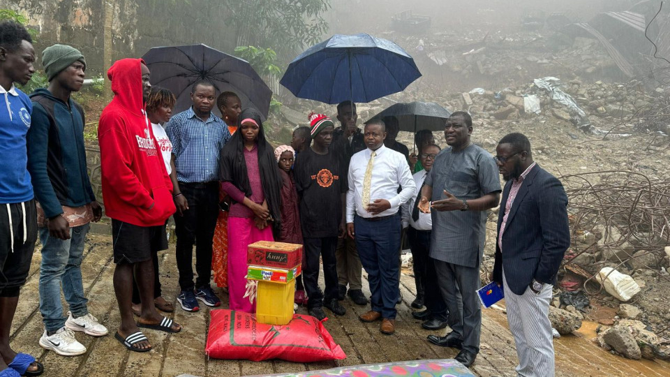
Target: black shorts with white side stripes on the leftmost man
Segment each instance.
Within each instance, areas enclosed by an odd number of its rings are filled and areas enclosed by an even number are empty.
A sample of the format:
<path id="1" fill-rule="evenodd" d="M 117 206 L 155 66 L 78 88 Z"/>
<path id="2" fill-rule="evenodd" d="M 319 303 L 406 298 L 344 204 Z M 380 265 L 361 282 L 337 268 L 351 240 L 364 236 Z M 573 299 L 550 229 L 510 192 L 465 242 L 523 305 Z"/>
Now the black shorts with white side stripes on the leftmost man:
<path id="1" fill-rule="evenodd" d="M 23 210 L 25 207 L 25 213 Z M 10 226 L 9 216 L 12 219 Z M 25 220 L 25 221 L 24 221 Z M 23 224 L 26 224 L 24 229 Z M 10 229 L 12 232 L 10 233 Z M 26 242 L 23 242 L 24 234 Z M 12 235 L 14 244 L 12 244 Z M 0 297 L 17 297 L 26 283 L 37 241 L 35 200 L 0 204 Z"/>

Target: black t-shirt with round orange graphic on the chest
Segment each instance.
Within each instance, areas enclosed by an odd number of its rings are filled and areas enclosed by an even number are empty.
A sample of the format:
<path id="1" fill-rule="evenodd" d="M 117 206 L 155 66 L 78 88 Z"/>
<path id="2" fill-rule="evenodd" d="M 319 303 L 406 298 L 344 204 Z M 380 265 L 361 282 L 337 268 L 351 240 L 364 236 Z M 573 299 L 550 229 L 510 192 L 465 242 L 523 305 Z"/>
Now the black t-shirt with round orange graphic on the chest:
<path id="1" fill-rule="evenodd" d="M 311 148 L 300 153 L 293 175 L 300 198 L 303 237 L 336 237 L 342 219 L 341 194 L 347 192 L 345 165 L 332 151 L 317 154 Z"/>

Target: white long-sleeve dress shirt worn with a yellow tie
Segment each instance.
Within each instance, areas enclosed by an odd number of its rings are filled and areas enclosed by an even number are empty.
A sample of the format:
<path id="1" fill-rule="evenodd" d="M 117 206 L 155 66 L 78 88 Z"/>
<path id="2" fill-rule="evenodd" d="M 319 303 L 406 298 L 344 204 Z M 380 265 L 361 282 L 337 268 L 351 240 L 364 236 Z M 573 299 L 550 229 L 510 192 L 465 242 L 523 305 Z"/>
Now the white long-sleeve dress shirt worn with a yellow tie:
<path id="1" fill-rule="evenodd" d="M 373 216 L 367 212 L 361 202 L 363 197 L 363 180 L 368 168 L 368 161 L 372 154 L 371 149 L 359 151 L 351 157 L 349 163 L 349 191 L 347 192 L 347 223 L 354 222 L 354 214 L 361 217 L 378 217 L 396 214 L 403 203 L 410 200 L 416 191 L 414 179 L 405 156 L 382 145 L 376 150 L 377 155 L 372 170 L 370 184 L 370 202 L 385 199 L 391 203 L 391 208 Z M 402 191 L 398 193 L 398 186 Z"/>

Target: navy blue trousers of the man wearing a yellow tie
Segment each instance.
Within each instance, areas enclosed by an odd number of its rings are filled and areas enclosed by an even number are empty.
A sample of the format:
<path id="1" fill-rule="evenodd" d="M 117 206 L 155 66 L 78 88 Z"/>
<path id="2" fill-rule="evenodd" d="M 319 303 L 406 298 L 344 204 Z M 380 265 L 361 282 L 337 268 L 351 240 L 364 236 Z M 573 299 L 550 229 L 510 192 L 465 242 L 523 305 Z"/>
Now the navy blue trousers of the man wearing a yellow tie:
<path id="1" fill-rule="evenodd" d="M 354 230 L 356 249 L 363 268 L 368 273 L 373 311 L 382 318 L 396 318 L 396 302 L 400 295 L 398 263 L 400 255 L 400 215 L 370 221 L 356 216 Z"/>

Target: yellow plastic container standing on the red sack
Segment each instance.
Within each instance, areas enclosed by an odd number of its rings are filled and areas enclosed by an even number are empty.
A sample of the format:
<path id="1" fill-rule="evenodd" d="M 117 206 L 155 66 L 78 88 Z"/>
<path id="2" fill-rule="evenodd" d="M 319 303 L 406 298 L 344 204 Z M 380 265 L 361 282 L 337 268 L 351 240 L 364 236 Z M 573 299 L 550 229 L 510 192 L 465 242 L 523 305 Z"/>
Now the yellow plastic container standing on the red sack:
<path id="1" fill-rule="evenodd" d="M 293 318 L 295 279 L 288 283 L 258 281 L 256 320 L 268 325 L 286 325 Z"/>

